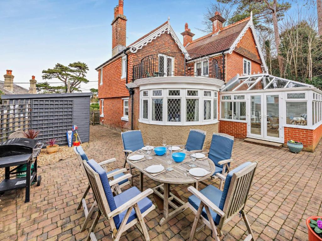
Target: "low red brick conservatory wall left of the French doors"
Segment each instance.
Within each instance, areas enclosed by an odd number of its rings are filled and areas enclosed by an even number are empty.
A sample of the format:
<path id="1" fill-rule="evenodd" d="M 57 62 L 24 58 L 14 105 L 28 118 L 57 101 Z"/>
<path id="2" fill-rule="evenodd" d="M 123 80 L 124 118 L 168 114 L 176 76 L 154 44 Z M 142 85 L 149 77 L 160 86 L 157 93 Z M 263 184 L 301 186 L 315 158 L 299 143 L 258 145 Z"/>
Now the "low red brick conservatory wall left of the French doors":
<path id="1" fill-rule="evenodd" d="M 247 123 L 235 121 L 219 121 L 219 132 L 235 138 L 244 139 L 247 136 Z"/>

